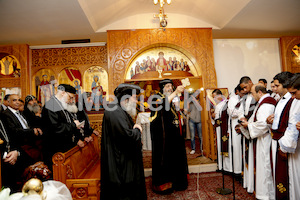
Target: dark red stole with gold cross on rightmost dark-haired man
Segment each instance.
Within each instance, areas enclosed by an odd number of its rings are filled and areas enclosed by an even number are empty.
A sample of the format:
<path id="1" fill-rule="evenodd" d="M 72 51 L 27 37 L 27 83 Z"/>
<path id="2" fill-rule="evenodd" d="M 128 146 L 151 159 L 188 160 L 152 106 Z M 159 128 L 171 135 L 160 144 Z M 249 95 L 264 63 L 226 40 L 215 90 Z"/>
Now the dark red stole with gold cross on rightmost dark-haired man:
<path id="1" fill-rule="evenodd" d="M 272 129 L 272 139 L 277 140 L 278 150 L 276 152 L 275 160 L 275 189 L 276 199 L 289 199 L 289 173 L 288 173 L 288 159 L 287 156 L 279 154 L 279 143 L 278 140 L 284 135 L 286 128 L 288 127 L 290 108 L 293 102 L 291 98 L 285 105 L 278 125 L 277 130 Z M 271 159 L 272 161 L 272 159 Z M 272 162 L 271 162 L 272 163 Z M 273 169 L 272 169 L 273 170 Z"/>

